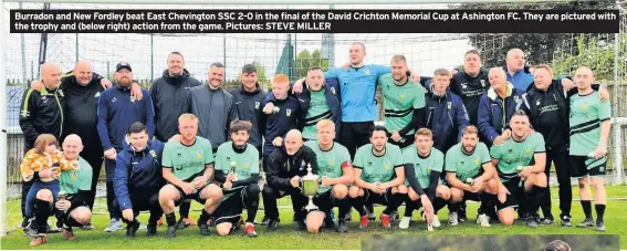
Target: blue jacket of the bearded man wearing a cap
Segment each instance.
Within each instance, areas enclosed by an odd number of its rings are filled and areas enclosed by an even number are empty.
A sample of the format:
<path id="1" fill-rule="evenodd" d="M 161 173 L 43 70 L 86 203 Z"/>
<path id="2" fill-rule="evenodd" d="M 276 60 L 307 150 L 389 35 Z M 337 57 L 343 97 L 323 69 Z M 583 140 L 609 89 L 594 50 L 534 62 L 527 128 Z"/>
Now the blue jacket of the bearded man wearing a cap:
<path id="1" fill-rule="evenodd" d="M 146 90 L 142 90 L 142 101 L 130 97 L 130 91 L 119 86 L 104 91 L 98 98 L 98 136 L 103 150 L 112 147 L 121 151 L 124 146 L 128 127 L 135 122 L 142 122 L 148 128 L 148 138 L 155 134 L 155 108 L 153 100 Z"/>

